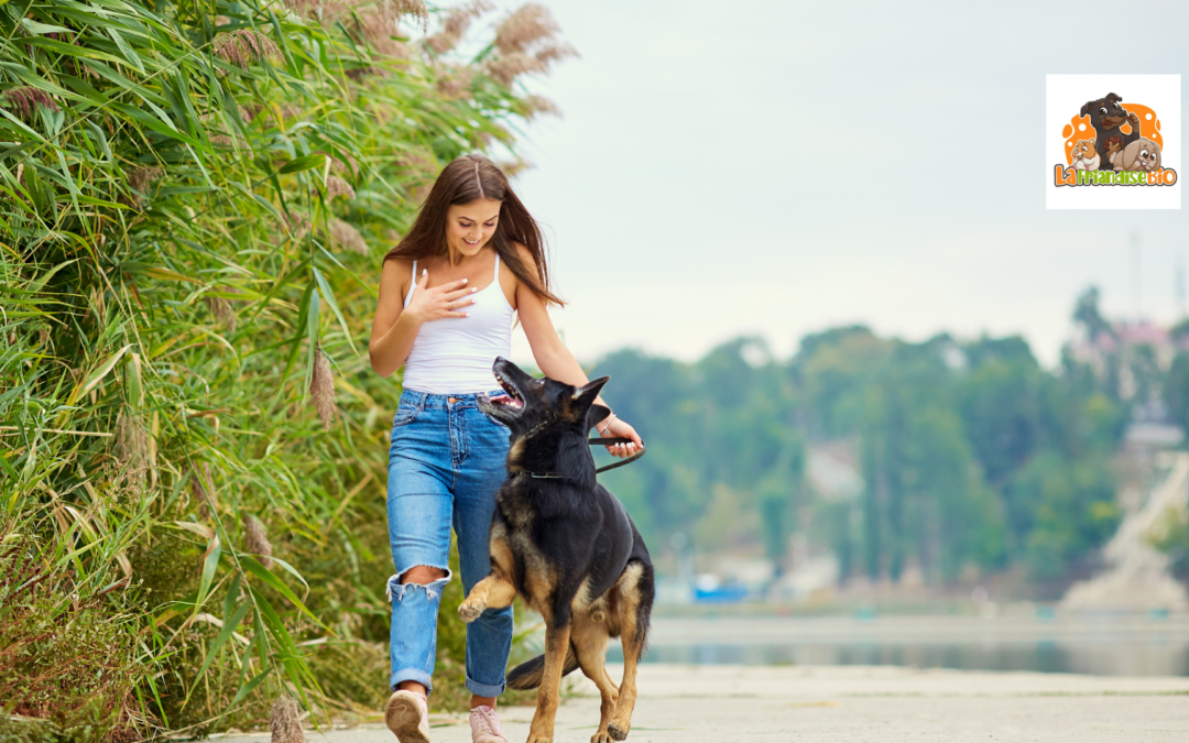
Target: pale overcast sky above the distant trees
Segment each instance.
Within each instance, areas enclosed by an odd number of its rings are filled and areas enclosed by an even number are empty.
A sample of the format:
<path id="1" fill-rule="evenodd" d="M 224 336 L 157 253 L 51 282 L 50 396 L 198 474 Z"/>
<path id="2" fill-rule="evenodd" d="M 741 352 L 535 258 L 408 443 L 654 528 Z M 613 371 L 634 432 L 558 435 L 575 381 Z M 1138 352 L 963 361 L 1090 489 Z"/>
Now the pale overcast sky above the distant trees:
<path id="1" fill-rule="evenodd" d="M 523 130 L 535 168 L 514 185 L 584 363 L 693 360 L 743 334 L 787 357 L 863 323 L 1020 334 L 1052 365 L 1092 284 L 1108 315 L 1181 316 L 1184 213 L 1046 210 L 1039 172 L 1045 75 L 1184 86 L 1189 4 L 1145 4 L 1138 34 L 1090 23 L 1133 13 L 1095 2 L 546 5 L 581 57 L 528 81 L 562 118 Z"/>

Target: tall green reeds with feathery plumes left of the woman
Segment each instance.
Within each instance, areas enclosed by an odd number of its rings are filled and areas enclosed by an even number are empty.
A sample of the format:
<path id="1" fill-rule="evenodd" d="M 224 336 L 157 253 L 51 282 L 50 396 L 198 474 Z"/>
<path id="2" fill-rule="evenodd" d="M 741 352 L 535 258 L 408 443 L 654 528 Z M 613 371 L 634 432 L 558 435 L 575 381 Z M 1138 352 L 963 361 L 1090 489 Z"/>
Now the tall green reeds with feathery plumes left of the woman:
<path id="1" fill-rule="evenodd" d="M 0 733 L 383 693 L 379 259 L 572 53 L 526 6 L 463 58 L 485 10 L 0 5 Z"/>

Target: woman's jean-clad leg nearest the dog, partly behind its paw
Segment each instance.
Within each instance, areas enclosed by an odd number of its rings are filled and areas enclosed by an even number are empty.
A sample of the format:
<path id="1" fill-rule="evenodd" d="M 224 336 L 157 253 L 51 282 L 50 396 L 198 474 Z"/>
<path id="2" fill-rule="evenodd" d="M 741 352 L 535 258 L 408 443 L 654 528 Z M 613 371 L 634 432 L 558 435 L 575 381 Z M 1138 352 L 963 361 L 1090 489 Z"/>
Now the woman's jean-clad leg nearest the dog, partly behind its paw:
<path id="1" fill-rule="evenodd" d="M 458 534 L 463 593 L 491 572 L 489 537 L 496 492 L 508 476 L 508 429 L 477 409 L 465 417 L 467 455 L 454 486 L 454 531 Z M 466 687 L 471 706 L 495 706 L 504 691 L 504 672 L 512 648 L 512 607 L 487 609 L 466 625 Z"/>

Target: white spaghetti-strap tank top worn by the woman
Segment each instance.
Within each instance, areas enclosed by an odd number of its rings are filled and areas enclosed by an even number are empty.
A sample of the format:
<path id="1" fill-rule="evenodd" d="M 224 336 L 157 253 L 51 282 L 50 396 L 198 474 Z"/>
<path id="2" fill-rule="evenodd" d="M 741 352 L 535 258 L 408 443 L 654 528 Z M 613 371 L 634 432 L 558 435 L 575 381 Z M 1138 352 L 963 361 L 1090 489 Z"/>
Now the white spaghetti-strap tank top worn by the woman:
<path id="1" fill-rule="evenodd" d="M 417 262 L 404 307 L 417 289 Z M 470 316 L 421 325 L 404 361 L 404 388 L 429 395 L 470 395 L 499 386 L 491 372 L 497 355 L 512 351 L 512 309 L 499 288 L 499 253 L 491 283 L 471 295 Z"/>

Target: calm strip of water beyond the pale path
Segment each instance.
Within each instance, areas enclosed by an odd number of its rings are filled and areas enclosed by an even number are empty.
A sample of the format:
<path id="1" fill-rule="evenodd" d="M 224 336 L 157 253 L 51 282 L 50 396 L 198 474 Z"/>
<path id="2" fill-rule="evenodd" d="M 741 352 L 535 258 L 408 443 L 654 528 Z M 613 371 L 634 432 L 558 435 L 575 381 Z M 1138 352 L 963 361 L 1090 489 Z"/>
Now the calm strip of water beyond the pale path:
<path id="1" fill-rule="evenodd" d="M 649 642 L 656 663 L 1189 676 L 1185 617 L 660 617 Z"/>

